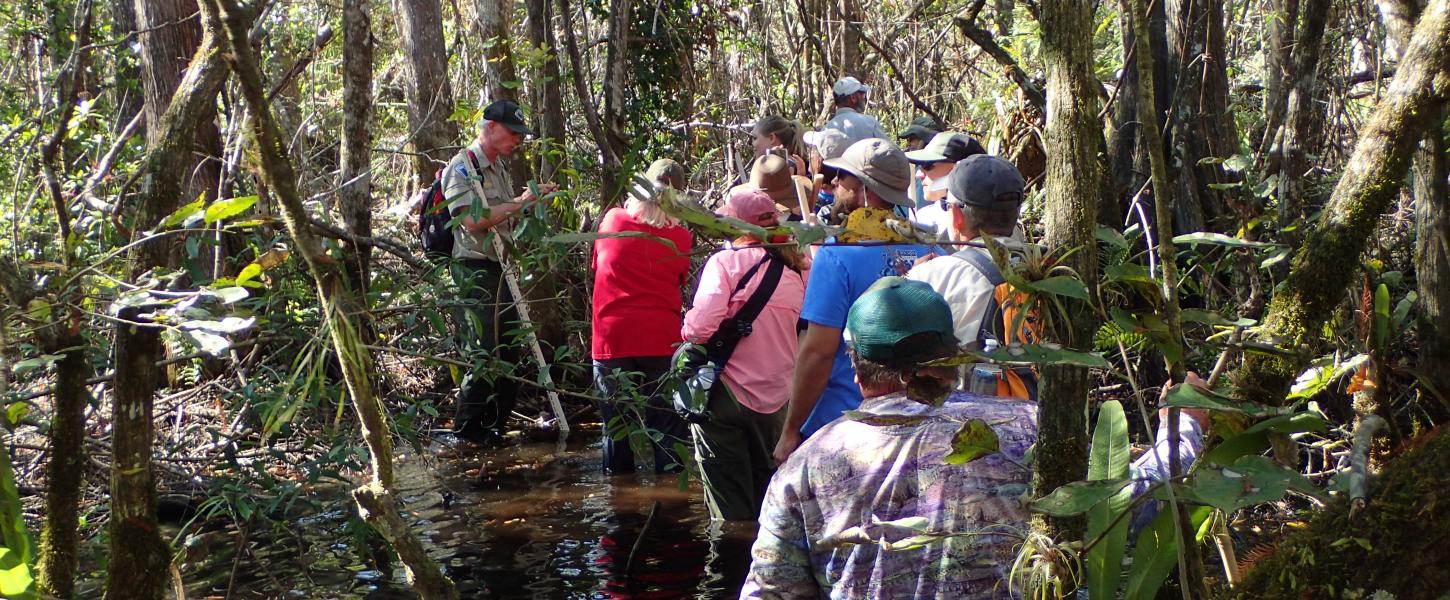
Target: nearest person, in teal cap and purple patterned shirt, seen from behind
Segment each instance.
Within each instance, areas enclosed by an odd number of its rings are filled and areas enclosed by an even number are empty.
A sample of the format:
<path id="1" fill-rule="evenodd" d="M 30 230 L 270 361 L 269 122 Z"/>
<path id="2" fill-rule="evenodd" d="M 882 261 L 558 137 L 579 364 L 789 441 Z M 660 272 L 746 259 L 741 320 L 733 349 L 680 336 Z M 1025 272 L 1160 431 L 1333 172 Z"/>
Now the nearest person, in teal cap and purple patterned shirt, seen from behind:
<path id="1" fill-rule="evenodd" d="M 1028 526 L 1024 458 L 1037 441 L 1037 404 L 947 397 L 956 370 L 921 365 L 957 352 L 953 330 L 947 301 L 921 281 L 884 277 L 851 304 L 845 335 L 866 400 L 776 471 L 742 599 L 1012 597 L 1006 574 Z M 1206 414 L 1185 416 L 1188 468 Z M 992 428 L 999 451 L 947 464 L 972 419 Z M 1159 445 L 1134 462 L 1135 494 L 1167 474 L 1166 439 L 1160 428 Z M 921 533 L 953 536 L 902 543 Z"/>

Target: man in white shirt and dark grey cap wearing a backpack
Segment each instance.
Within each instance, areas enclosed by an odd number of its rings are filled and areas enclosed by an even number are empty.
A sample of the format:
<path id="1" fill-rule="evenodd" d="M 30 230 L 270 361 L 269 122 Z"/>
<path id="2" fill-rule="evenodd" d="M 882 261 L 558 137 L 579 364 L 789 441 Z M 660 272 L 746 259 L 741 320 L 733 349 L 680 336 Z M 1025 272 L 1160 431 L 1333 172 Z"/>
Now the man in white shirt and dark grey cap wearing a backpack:
<path id="1" fill-rule="evenodd" d="M 1016 167 L 1000 157 L 977 154 L 957 162 L 945 181 L 948 238 L 953 242 L 973 242 L 983 235 L 1012 235 L 1027 187 Z M 992 325 L 982 323 L 982 317 L 996 286 L 963 258 L 964 252 L 986 254 L 986 248 L 958 248 L 954 255 L 918 264 L 906 278 L 924 281 L 947 299 L 957 339 L 973 343 L 982 339 L 983 325 Z"/>

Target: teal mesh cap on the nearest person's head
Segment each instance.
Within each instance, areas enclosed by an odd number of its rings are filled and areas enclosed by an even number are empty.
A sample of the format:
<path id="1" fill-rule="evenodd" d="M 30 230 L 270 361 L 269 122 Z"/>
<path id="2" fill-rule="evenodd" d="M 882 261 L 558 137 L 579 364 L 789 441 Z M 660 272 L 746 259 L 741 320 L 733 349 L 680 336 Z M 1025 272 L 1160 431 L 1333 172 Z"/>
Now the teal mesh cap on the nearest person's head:
<path id="1" fill-rule="evenodd" d="M 957 354 L 953 332 L 947 300 L 902 277 L 877 280 L 845 314 L 845 339 L 856 355 L 896 368 Z"/>

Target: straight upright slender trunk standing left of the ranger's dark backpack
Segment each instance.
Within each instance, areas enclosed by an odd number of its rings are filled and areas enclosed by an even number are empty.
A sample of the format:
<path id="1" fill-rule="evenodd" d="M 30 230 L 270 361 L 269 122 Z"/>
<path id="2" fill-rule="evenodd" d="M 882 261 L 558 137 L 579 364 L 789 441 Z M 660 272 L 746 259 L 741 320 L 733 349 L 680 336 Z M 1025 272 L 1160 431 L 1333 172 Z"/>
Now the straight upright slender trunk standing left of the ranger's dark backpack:
<path id="1" fill-rule="evenodd" d="M 342 3 L 342 149 L 338 170 L 338 212 L 348 233 L 373 236 L 373 20 L 367 0 Z M 373 246 L 344 241 L 348 287 L 367 294 Z M 365 297 L 365 296 L 364 296 Z"/>

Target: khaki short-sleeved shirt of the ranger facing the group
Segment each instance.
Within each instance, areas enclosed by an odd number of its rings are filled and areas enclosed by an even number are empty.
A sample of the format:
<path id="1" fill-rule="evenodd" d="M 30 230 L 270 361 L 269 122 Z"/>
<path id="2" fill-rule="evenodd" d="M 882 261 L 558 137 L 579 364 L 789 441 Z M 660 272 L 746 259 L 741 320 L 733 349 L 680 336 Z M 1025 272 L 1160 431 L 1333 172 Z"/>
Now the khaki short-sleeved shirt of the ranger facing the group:
<path id="1" fill-rule="evenodd" d="M 476 170 L 473 167 L 468 151 L 473 151 L 480 168 Z M 474 191 L 473 186 L 476 181 L 478 188 L 483 190 L 483 199 L 478 199 L 478 194 Z M 444 199 L 448 199 L 448 212 L 454 216 L 473 214 L 474 219 L 486 217 L 489 216 L 489 207 L 513 201 L 512 190 L 513 181 L 509 180 L 509 171 L 503 170 L 503 162 L 497 159 L 490 162 L 489 157 L 483 154 L 483 145 L 477 141 L 470 143 L 467 149 L 455 154 L 444 170 Z M 471 213 L 468 213 L 470 210 Z M 493 230 L 508 233 L 509 223 L 494 225 Z M 493 251 L 493 241 L 489 239 L 489 230 L 474 233 L 460 223 L 454 228 L 454 258 L 497 261 L 499 255 Z"/>

